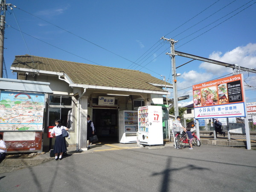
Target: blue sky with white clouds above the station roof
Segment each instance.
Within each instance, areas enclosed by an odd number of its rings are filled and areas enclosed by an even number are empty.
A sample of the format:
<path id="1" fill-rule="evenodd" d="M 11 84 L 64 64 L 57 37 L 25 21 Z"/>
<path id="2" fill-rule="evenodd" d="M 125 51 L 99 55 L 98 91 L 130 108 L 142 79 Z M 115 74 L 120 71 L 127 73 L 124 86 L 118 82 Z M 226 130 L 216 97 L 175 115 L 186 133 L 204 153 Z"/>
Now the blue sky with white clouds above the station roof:
<path id="1" fill-rule="evenodd" d="M 256 0 L 6 0 L 3 77 L 17 79 L 15 55 L 35 55 L 140 70 L 172 83 L 175 50 L 256 68 Z M 175 56 L 176 67 L 191 61 Z M 77 69 L 79 70 L 79 69 Z M 7 72 L 7 76 L 6 76 Z M 230 76 L 232 69 L 192 61 L 178 67 L 179 106 L 192 85 Z M 244 74 L 247 102 L 256 102 L 256 73 Z M 125 78 L 125 77 L 124 77 Z M 173 97 L 169 89 L 168 98 Z"/>

